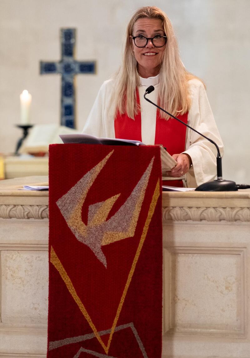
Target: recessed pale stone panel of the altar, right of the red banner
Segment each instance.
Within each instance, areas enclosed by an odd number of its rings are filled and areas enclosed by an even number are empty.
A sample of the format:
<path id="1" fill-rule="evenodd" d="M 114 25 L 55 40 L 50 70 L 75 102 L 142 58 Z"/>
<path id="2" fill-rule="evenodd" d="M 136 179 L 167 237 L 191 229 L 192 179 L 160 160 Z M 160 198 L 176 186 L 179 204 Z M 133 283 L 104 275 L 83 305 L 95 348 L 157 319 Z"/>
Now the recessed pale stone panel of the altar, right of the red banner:
<path id="1" fill-rule="evenodd" d="M 244 335 L 244 249 L 165 251 L 165 265 L 170 267 L 165 332 L 170 328 L 179 333 Z"/>

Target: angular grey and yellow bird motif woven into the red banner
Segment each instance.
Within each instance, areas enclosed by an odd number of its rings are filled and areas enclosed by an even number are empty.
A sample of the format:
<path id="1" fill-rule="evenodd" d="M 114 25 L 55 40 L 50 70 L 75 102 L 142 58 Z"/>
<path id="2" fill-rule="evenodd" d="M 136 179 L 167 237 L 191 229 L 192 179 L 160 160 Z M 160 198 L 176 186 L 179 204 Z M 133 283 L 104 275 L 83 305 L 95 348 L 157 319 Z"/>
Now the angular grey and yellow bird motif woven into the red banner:
<path id="1" fill-rule="evenodd" d="M 106 155 L 100 163 L 83 175 L 66 194 L 57 200 L 57 206 L 74 236 L 78 241 L 90 247 L 105 267 L 107 267 L 107 261 L 101 246 L 134 236 L 154 161 L 153 157 L 125 203 L 110 219 L 106 220 L 120 194 L 90 205 L 88 221 L 85 225 L 82 221 L 82 206 L 91 185 L 113 152 L 114 150 Z"/>

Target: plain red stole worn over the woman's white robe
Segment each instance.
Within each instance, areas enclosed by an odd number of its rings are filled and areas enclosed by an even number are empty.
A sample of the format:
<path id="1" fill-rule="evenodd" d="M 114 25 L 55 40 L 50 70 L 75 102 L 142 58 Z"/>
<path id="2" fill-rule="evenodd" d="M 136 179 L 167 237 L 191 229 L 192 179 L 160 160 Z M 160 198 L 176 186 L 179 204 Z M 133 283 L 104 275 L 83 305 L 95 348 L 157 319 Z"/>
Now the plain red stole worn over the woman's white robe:
<path id="1" fill-rule="evenodd" d="M 136 91 L 136 98 L 137 103 L 140 103 L 138 91 Z M 169 120 L 166 121 L 160 117 L 159 112 L 157 109 L 154 143 L 162 144 L 167 148 L 170 155 L 182 153 L 185 150 L 187 127 L 174 118 L 169 118 Z M 184 115 L 179 115 L 177 118 L 187 123 L 188 112 Z M 135 116 L 134 120 L 128 117 L 126 113 L 122 115 L 117 113 L 115 118 L 115 137 L 141 141 L 141 112 Z M 183 186 L 182 180 L 164 181 L 163 184 L 172 185 L 174 187 Z"/>

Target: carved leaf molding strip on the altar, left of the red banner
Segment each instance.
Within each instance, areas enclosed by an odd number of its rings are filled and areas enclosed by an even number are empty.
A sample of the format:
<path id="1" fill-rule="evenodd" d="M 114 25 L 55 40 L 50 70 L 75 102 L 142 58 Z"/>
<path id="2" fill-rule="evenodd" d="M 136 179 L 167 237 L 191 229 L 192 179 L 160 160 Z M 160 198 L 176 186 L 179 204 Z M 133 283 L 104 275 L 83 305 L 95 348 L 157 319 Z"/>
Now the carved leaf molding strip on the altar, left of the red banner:
<path id="1" fill-rule="evenodd" d="M 0 205 L 3 219 L 48 219 L 48 205 Z"/>

